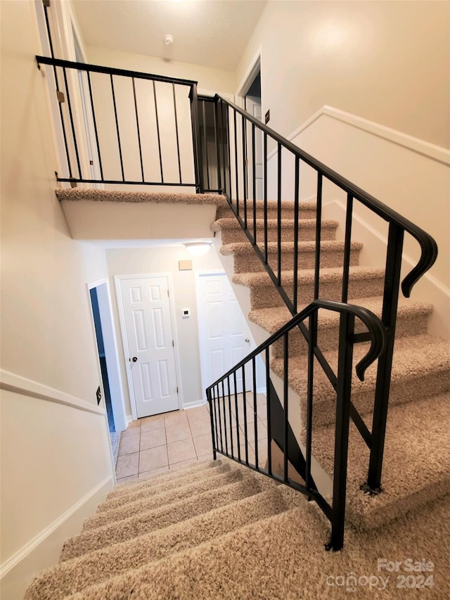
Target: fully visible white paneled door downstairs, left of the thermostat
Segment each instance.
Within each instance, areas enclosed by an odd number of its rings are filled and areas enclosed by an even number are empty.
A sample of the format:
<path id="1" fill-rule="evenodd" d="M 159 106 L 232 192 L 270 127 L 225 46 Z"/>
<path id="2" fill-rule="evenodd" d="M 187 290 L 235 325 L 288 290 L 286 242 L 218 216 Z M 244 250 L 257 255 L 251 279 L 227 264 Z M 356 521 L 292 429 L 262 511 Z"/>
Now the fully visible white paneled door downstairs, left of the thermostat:
<path id="1" fill-rule="evenodd" d="M 121 279 L 138 417 L 179 409 L 167 277 Z"/>

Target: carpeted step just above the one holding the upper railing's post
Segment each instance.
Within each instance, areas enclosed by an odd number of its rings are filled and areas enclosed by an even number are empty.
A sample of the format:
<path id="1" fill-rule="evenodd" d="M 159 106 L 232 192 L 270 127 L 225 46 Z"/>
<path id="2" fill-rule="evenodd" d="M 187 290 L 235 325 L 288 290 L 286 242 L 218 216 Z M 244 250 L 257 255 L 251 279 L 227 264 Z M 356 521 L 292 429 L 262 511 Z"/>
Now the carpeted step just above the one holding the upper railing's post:
<path id="1" fill-rule="evenodd" d="M 367 352 L 367 344 L 354 347 L 354 364 Z M 450 352 L 446 340 L 429 335 L 407 336 L 395 342 L 392 362 L 390 406 L 422 400 L 450 390 Z M 338 352 L 324 352 L 332 369 L 337 372 Z M 366 371 L 364 381 L 355 374 L 352 379 L 352 402 L 361 415 L 370 416 L 373 410 L 373 392 L 377 374 L 375 362 Z M 271 361 L 271 369 L 283 376 L 283 360 Z M 300 395 L 301 411 L 306 415 L 307 357 L 293 357 L 289 361 L 289 385 Z M 314 370 L 314 426 L 333 423 L 335 391 L 317 366 Z M 388 416 L 389 421 L 389 416 Z M 368 426 L 371 418 L 366 419 Z M 418 421 L 420 423 L 420 421 Z"/>

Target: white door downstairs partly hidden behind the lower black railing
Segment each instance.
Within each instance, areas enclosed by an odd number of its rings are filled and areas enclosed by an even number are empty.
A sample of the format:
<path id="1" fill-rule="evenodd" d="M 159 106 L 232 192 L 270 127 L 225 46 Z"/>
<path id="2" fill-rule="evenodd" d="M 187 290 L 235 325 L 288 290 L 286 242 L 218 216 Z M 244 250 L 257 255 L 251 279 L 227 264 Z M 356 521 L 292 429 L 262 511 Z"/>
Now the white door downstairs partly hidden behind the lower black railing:
<path id="1" fill-rule="evenodd" d="M 205 397 L 205 388 L 251 351 L 250 330 L 226 274 L 200 274 L 198 326 Z M 242 378 L 242 369 L 239 369 L 236 374 L 238 393 L 243 391 Z M 252 389 L 251 365 L 245 369 L 245 388 Z M 227 392 L 226 386 L 224 391 Z M 234 392 L 233 378 L 230 379 L 230 391 Z"/>

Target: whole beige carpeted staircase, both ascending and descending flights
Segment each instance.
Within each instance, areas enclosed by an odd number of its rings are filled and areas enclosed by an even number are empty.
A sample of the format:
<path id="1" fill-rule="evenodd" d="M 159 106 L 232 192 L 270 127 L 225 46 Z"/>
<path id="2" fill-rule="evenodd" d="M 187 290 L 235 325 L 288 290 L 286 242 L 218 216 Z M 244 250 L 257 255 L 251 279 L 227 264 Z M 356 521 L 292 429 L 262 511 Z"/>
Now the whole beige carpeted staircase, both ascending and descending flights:
<path id="1" fill-rule="evenodd" d="M 276 262 L 276 203 L 269 203 L 269 262 Z M 250 207 L 251 208 L 251 207 Z M 261 204 L 257 227 L 262 231 Z M 249 213 L 252 219 L 252 212 Z M 283 281 L 293 267 L 293 205 L 283 203 Z M 301 207 L 300 304 L 311 300 L 314 205 Z M 252 221 L 251 221 L 252 222 Z M 323 222 L 321 297 L 339 299 L 342 243 L 336 222 Z M 248 319 L 274 333 L 290 319 L 264 267 L 229 208 L 212 229 L 221 254 L 233 256 L 233 282 L 250 290 Z M 383 272 L 359 266 L 352 247 L 349 302 L 380 314 Z M 387 421 L 383 494 L 359 490 L 368 452 L 354 426 L 349 441 L 345 547 L 326 552 L 329 523 L 314 502 L 228 459 L 116 487 L 66 542 L 60 563 L 40 573 L 27 600 L 450 598 L 450 360 L 449 343 L 426 333 L 432 305 L 401 300 Z M 319 346 L 335 366 L 338 316 L 323 314 Z M 290 340 L 290 389 L 304 397 L 305 345 Z M 281 376 L 282 347 L 271 355 Z M 356 347 L 356 354 L 364 347 Z M 371 423 L 376 366 L 354 381 L 353 402 Z M 300 400 L 302 402 L 302 400 Z M 333 389 L 318 371 L 313 452 L 333 469 Z M 300 406 L 301 413 L 304 407 Z M 300 430 L 300 436 L 302 431 Z M 264 440 L 260 440 L 264 442 Z M 264 446 L 264 444 L 263 444 Z M 262 459 L 260 459 L 261 461 Z M 397 570 L 378 560 L 400 561 Z M 432 563 L 405 570 L 405 558 Z M 423 563 L 422 563 L 423 564 Z M 405 577 L 409 579 L 406 585 Z M 403 577 L 403 580 L 401 579 Z M 387 579 L 388 578 L 388 579 Z M 416 588 L 422 587 L 420 592 Z M 414 588 L 414 589 L 411 589 Z"/>

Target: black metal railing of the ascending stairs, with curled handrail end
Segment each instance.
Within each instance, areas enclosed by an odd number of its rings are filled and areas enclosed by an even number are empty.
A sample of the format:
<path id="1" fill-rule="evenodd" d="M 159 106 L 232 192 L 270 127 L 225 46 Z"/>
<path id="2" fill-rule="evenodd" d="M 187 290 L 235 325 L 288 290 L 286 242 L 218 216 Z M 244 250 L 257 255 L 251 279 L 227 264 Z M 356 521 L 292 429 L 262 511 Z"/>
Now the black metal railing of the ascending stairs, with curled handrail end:
<path id="1" fill-rule="evenodd" d="M 248 240 L 255 249 L 255 253 L 264 264 L 266 272 L 274 282 L 291 314 L 297 314 L 302 304 L 324 297 L 321 293 L 321 242 L 323 238 L 322 206 L 325 186 L 328 189 L 330 184 L 333 184 L 335 191 L 337 190 L 341 194 L 344 193 L 347 203 L 341 294 L 340 298 L 327 297 L 327 299 L 347 302 L 349 298 L 352 298 L 352 269 L 350 265 L 354 205 L 357 203 L 368 208 L 372 215 L 376 215 L 387 224 L 387 251 L 384 262 L 383 310 L 381 314 L 381 320 L 387 332 L 387 344 L 378 360 L 371 428 L 366 425 L 363 419 L 356 416 L 356 414 L 352 414 L 352 419 L 359 433 L 370 449 L 368 480 L 367 484 L 361 486 L 361 488 L 371 493 L 378 493 L 381 491 L 385 428 L 400 282 L 401 291 L 406 298 L 409 298 L 415 283 L 430 269 L 437 258 L 435 240 L 423 229 L 420 229 L 420 227 L 381 203 L 380 200 L 314 159 L 288 139 L 278 135 L 273 129 L 263 125 L 236 104 L 219 95 L 215 96 L 215 102 L 214 142 L 217 146 L 219 189 L 226 196 L 240 226 L 242 226 Z M 259 150 L 257 149 L 258 138 L 260 141 L 259 146 L 262 146 Z M 202 140 L 200 140 L 201 143 Z M 274 148 L 270 165 L 269 145 Z M 258 158 L 258 153 L 261 154 L 261 158 Z M 262 162 L 262 165 L 257 164 L 258 160 Z M 274 162 L 276 165 L 272 167 Z M 259 168 L 262 168 L 262 181 L 259 181 L 259 191 L 262 190 L 262 198 L 258 198 L 257 175 Z M 300 301 L 300 293 L 304 295 L 304 286 L 299 281 L 301 266 L 298 258 L 299 238 L 308 226 L 308 223 L 300 218 L 300 174 L 307 172 L 307 170 L 309 170 L 309 175 L 311 173 L 315 174 L 316 224 L 314 269 L 312 269 L 313 281 L 310 298 L 305 302 L 304 298 Z M 283 200 L 289 199 L 283 197 L 283 191 L 287 187 L 286 179 L 289 179 L 294 203 L 294 219 L 293 223 L 290 224 L 292 236 L 288 240 L 291 244 L 293 243 L 293 269 L 290 269 L 290 271 L 283 270 L 283 255 L 285 253 L 283 241 L 286 241 L 283 230 L 285 230 L 286 223 L 283 221 L 282 210 Z M 269 190 L 274 190 L 274 192 Z M 274 196 L 271 200 L 276 201 L 276 217 L 268 216 L 268 201 L 271 193 Z M 259 203 L 257 200 L 259 200 Z M 269 225 L 273 226 L 273 220 L 270 219 L 274 218 L 276 218 L 276 234 L 273 234 L 273 241 L 271 242 L 269 241 Z M 311 222 L 309 221 L 310 226 Z M 416 266 L 401 281 L 401 255 L 405 234 L 409 234 L 418 242 L 420 258 Z M 309 330 L 307 326 L 299 321 L 299 327 L 304 337 L 308 339 Z"/>

